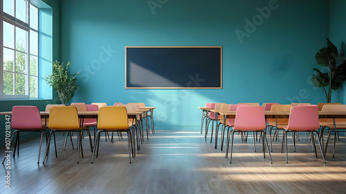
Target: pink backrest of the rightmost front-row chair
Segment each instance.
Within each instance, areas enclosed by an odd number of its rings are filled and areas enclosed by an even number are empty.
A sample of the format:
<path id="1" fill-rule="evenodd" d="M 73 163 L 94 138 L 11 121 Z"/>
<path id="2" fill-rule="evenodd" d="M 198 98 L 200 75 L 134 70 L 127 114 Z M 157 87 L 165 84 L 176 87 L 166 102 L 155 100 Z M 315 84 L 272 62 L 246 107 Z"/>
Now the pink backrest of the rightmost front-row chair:
<path id="1" fill-rule="evenodd" d="M 318 106 L 295 106 L 289 112 L 288 130 L 309 131 L 320 127 Z"/>

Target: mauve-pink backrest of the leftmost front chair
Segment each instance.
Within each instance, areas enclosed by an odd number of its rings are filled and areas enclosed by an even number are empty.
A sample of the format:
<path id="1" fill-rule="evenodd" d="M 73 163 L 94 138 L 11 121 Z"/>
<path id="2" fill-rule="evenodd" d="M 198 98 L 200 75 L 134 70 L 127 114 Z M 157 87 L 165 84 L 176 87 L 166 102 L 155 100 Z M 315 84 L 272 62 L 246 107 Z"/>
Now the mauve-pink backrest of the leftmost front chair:
<path id="1" fill-rule="evenodd" d="M 12 107 L 11 127 L 15 130 L 42 129 L 39 109 L 35 106 Z"/>

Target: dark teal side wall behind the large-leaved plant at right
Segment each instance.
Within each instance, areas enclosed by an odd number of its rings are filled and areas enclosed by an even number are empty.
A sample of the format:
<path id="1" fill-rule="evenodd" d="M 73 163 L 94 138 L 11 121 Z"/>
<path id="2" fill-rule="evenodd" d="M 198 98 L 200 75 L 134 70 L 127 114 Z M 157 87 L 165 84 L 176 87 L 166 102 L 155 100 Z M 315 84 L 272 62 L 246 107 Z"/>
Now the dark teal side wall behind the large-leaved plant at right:
<path id="1" fill-rule="evenodd" d="M 346 1 L 329 1 L 329 39 L 337 47 L 342 61 L 346 60 Z M 340 103 L 346 103 L 346 82 L 343 83 L 339 92 Z"/>

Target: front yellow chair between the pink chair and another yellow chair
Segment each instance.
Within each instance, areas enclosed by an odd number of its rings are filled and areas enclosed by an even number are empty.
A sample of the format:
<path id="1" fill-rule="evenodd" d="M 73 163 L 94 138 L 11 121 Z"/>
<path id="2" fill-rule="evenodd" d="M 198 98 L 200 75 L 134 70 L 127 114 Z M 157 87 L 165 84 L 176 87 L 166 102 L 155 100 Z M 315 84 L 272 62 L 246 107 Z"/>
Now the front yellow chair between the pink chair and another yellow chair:
<path id="1" fill-rule="evenodd" d="M 77 155 L 77 163 L 80 162 L 80 150 L 82 149 L 82 128 L 78 122 L 78 112 L 76 107 L 51 107 L 49 112 L 49 123 L 48 127 L 50 129 L 48 143 L 46 147 L 46 152 L 44 154 L 44 161 L 48 156 L 49 145 L 51 143 L 52 134 L 55 139 L 55 132 L 78 132 L 78 155 Z M 57 145 L 54 141 L 55 146 L 55 157 L 57 157 Z M 82 152 L 83 157 L 83 152 Z"/>

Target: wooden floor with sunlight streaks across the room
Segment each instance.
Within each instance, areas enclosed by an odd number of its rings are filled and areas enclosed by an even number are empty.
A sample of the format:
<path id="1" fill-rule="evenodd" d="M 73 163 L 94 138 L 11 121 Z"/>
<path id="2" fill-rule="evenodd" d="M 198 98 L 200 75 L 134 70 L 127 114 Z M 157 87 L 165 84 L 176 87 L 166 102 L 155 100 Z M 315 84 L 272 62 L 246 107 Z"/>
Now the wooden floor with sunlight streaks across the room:
<path id="1" fill-rule="evenodd" d="M 10 160 L 10 189 L 5 187 L 6 169 L 2 167 L 0 193 L 346 193 L 344 134 L 334 159 L 329 146 L 327 164 L 319 150 L 316 159 L 304 134 L 297 152 L 289 142 L 289 164 L 280 153 L 281 141 L 273 144 L 270 164 L 268 155 L 263 158 L 260 143 L 253 152 L 252 136 L 247 143 L 235 136 L 230 164 L 225 152 L 214 149 L 210 136 L 205 142 L 199 130 L 156 130 L 143 142 L 132 164 L 126 135 L 113 144 L 103 137 L 94 164 L 90 163 L 89 139 L 83 140 L 80 164 L 71 142 L 63 152 L 63 139 L 57 134 L 58 158 L 51 149 L 46 164 L 37 164 L 39 139 L 23 142 L 19 157 Z"/>

